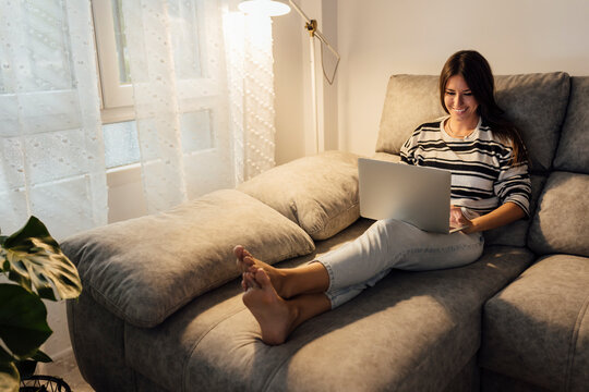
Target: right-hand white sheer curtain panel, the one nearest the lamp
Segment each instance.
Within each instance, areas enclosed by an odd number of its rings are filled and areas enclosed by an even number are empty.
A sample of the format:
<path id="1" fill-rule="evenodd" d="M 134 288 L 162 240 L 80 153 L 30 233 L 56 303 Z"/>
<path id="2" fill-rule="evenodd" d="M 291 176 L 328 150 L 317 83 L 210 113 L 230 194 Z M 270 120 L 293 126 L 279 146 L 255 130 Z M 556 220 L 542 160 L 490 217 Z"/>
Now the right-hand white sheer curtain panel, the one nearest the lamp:
<path id="1" fill-rule="evenodd" d="M 229 5 L 122 2 L 149 212 L 274 166 L 272 22 Z"/>

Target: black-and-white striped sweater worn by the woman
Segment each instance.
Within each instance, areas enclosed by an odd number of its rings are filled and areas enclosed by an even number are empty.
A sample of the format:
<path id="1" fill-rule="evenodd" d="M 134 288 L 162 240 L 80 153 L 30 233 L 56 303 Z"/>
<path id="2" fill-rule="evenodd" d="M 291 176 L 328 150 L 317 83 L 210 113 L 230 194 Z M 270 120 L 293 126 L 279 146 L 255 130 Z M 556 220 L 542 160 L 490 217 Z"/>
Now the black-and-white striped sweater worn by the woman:
<path id="1" fill-rule="evenodd" d="M 444 121 L 420 125 L 400 150 L 401 162 L 452 172 L 450 203 L 473 219 L 512 201 L 529 217 L 531 184 L 527 162 L 512 164 L 513 149 L 481 120 L 472 134 L 454 138 Z"/>

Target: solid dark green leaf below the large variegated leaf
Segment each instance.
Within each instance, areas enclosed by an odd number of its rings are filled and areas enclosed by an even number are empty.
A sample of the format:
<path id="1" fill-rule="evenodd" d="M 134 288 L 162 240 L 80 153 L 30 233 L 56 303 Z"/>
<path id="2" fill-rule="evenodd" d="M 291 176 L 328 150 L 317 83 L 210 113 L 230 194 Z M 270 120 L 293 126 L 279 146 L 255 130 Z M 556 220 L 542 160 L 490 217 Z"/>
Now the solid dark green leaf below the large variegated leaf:
<path id="1" fill-rule="evenodd" d="M 16 284 L 0 284 L 0 339 L 20 359 L 37 353 L 52 333 L 43 301 Z"/>

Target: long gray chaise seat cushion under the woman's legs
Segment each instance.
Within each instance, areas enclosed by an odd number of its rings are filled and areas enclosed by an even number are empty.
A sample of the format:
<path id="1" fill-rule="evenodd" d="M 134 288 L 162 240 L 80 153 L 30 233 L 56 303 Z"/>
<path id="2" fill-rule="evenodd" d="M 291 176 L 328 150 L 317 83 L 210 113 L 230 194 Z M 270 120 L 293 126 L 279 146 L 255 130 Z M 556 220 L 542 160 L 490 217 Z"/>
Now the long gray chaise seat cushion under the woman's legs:
<path id="1" fill-rule="evenodd" d="M 261 342 L 236 281 L 155 329 L 128 328 L 127 360 L 175 391 L 443 390 L 479 348 L 482 304 L 532 258 L 525 248 L 492 247 L 462 268 L 393 271 L 279 346 Z"/>

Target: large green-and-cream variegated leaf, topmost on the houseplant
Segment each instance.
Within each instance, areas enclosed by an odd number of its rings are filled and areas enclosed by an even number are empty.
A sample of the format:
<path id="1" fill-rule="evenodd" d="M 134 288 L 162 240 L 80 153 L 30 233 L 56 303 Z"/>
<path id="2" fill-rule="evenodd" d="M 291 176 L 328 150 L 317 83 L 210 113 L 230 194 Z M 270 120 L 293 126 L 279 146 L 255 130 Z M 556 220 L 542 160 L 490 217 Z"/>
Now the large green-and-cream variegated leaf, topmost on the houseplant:
<path id="1" fill-rule="evenodd" d="M 37 218 L 31 217 L 2 247 L 9 279 L 29 292 L 36 291 L 41 298 L 51 301 L 57 299 L 55 293 L 61 299 L 69 299 L 82 292 L 77 269 Z"/>

